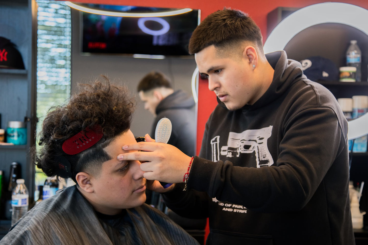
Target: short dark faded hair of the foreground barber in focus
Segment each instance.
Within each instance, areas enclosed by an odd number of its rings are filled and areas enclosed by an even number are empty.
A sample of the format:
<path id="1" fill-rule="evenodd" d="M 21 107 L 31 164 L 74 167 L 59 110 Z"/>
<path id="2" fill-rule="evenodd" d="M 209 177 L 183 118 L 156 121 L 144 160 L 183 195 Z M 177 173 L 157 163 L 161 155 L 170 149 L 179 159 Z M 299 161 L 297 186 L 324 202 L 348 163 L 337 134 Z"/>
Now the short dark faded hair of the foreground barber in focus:
<path id="1" fill-rule="evenodd" d="M 189 41 L 189 53 L 198 53 L 211 45 L 226 51 L 244 41 L 255 43 L 263 53 L 259 27 L 248 14 L 227 8 L 213 12 L 197 26 Z"/>

